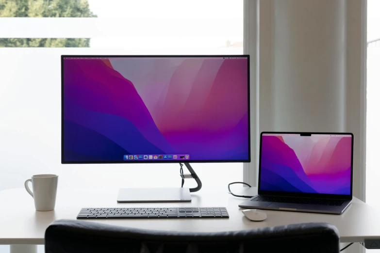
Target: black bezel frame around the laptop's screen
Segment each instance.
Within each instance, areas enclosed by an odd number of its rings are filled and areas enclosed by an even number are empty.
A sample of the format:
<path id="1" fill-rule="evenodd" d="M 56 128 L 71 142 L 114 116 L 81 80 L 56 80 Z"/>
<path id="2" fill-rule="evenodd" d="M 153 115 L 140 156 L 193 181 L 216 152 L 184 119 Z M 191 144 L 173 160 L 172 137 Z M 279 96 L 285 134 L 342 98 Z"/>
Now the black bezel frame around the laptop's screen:
<path id="1" fill-rule="evenodd" d="M 304 193 L 304 192 L 288 192 L 288 191 L 268 191 L 260 190 L 261 183 L 261 154 L 262 154 L 262 140 L 263 134 L 301 134 L 301 135 L 311 135 L 311 134 L 331 134 L 331 135 L 351 135 L 351 187 L 350 194 L 326 194 L 326 193 Z M 289 196 L 289 197 L 308 197 L 308 198 L 324 198 L 324 199 L 352 199 L 352 182 L 353 182 L 353 161 L 354 161 L 354 135 L 352 133 L 339 133 L 339 132 L 262 132 L 260 134 L 260 153 L 259 153 L 259 180 L 257 192 L 260 195 L 274 195 L 274 196 Z"/>

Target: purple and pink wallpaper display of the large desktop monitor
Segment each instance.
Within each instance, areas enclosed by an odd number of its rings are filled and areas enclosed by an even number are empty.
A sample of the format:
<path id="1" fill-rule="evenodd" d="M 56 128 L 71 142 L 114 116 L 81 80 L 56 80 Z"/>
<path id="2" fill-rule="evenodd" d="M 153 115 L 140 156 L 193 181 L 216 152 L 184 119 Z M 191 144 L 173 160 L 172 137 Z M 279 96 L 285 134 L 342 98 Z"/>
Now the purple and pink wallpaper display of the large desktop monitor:
<path id="1" fill-rule="evenodd" d="M 248 59 L 64 58 L 63 161 L 248 160 Z"/>

